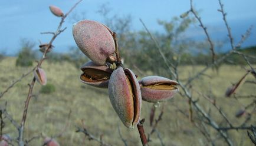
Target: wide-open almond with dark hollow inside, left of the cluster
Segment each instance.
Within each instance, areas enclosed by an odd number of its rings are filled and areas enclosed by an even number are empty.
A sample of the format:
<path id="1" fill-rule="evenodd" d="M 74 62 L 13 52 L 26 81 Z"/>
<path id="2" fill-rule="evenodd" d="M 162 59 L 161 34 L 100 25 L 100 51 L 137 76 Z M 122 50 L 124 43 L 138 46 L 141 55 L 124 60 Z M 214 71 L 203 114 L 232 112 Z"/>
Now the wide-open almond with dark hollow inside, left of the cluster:
<path id="1" fill-rule="evenodd" d="M 109 78 L 113 70 L 106 65 L 97 65 L 89 61 L 81 67 L 83 74 L 80 75 L 80 81 L 84 84 L 94 87 L 107 88 Z"/>

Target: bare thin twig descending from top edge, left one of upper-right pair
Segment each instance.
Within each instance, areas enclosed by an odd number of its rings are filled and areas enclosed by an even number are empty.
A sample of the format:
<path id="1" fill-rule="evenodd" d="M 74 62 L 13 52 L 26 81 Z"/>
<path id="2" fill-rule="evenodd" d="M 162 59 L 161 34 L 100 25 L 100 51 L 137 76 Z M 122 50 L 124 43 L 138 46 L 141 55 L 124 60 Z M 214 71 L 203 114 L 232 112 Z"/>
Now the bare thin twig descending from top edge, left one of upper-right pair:
<path id="1" fill-rule="evenodd" d="M 209 44 L 210 44 L 210 50 L 211 50 L 211 52 L 212 52 L 212 63 L 214 63 L 214 62 L 215 62 L 214 43 L 212 42 L 212 40 L 211 40 L 211 38 L 210 38 L 210 36 L 209 36 L 209 34 L 208 34 L 207 28 L 204 26 L 204 24 L 203 24 L 201 18 L 198 16 L 198 14 L 196 14 L 196 11 L 195 11 L 194 8 L 193 8 L 193 1 L 192 1 L 192 0 L 190 1 L 190 5 L 191 5 L 191 10 L 190 10 L 190 11 L 191 11 L 192 14 L 195 16 L 195 18 L 198 20 L 198 22 L 199 22 L 199 24 L 200 24 L 199 26 L 201 26 L 201 28 L 204 29 L 205 35 L 206 35 L 207 40 L 208 40 L 208 42 L 209 42 Z"/>

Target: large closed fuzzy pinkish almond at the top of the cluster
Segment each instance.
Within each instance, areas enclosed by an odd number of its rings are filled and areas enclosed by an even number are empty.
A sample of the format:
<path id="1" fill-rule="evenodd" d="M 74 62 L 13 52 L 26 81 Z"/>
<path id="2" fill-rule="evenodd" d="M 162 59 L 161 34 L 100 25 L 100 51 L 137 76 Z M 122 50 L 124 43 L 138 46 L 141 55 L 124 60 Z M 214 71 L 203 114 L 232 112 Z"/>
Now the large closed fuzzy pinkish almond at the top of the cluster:
<path id="1" fill-rule="evenodd" d="M 77 22 L 73 25 L 73 36 L 78 48 L 96 64 L 106 64 L 106 59 L 114 54 L 115 45 L 111 30 L 99 22 Z"/>

